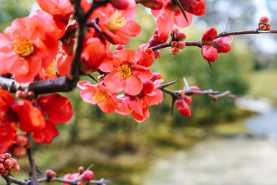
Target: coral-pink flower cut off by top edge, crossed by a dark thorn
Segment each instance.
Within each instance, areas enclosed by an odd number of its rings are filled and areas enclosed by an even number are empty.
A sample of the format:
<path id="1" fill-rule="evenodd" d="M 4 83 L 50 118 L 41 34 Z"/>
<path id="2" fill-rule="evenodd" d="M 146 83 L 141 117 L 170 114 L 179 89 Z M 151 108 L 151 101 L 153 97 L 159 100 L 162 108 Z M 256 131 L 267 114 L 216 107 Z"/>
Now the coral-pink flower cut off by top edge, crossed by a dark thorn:
<path id="1" fill-rule="evenodd" d="M 151 12 L 157 18 L 156 26 L 161 32 L 168 32 L 174 25 L 185 28 L 193 20 L 193 15 L 186 12 L 187 22 L 177 3 L 170 0 L 163 0 L 163 8 L 161 10 L 151 10 Z"/>

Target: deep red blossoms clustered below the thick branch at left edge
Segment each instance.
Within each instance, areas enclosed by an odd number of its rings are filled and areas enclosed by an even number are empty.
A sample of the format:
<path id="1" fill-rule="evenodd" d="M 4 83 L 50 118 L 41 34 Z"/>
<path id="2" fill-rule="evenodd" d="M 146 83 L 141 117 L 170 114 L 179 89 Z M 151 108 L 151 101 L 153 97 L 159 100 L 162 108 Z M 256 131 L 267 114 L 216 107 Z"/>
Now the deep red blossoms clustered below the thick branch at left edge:
<path id="1" fill-rule="evenodd" d="M 38 143 L 50 143 L 58 134 L 55 124 L 69 121 L 72 116 L 69 99 L 58 94 L 15 100 L 8 91 L 0 89 L 0 153 L 6 152 L 14 142 L 17 146 L 27 145 L 19 141 L 22 138 L 17 136 L 17 127 L 33 133 Z"/>

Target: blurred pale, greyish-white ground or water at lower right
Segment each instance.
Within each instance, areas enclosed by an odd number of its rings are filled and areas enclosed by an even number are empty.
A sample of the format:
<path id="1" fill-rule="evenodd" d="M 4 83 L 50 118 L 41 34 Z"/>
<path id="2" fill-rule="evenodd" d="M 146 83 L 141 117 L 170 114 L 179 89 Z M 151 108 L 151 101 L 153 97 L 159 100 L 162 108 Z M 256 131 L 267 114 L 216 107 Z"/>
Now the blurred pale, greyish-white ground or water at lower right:
<path id="1" fill-rule="evenodd" d="M 252 137 L 210 139 L 159 159 L 144 185 L 276 185 L 277 109 L 265 99 L 242 102 L 260 112 L 245 123 Z"/>

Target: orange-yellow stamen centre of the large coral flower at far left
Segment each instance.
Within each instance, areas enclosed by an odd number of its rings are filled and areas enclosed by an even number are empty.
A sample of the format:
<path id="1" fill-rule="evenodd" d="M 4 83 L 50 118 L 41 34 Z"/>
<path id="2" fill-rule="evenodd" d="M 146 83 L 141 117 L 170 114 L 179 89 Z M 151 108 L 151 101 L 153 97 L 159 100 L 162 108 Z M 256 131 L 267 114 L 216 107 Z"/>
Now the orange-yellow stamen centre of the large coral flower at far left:
<path id="1" fill-rule="evenodd" d="M 12 42 L 12 49 L 15 53 L 21 55 L 22 58 L 26 58 L 34 53 L 34 45 L 29 39 L 15 39 Z"/>

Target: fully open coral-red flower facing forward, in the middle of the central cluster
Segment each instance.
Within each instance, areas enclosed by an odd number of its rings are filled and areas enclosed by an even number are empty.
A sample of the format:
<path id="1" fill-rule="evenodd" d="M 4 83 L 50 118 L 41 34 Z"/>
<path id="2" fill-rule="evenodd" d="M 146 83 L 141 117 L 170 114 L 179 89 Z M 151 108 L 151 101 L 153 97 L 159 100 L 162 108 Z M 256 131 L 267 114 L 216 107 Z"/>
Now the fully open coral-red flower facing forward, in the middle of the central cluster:
<path id="1" fill-rule="evenodd" d="M 143 81 L 152 78 L 148 60 L 140 60 L 141 53 L 132 49 L 116 51 L 107 57 L 99 69 L 109 73 L 104 78 L 105 86 L 118 93 L 123 89 L 127 94 L 136 96 L 143 88 Z"/>

